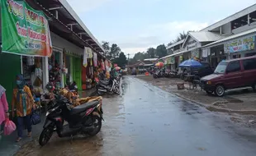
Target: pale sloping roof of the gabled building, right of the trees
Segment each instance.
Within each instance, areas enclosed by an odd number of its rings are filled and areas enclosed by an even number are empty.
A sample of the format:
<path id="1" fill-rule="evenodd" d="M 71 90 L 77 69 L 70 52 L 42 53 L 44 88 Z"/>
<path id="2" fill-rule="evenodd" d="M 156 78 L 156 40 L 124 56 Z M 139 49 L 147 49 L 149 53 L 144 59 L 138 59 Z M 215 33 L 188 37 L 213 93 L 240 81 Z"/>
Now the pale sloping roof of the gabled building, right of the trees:
<path id="1" fill-rule="evenodd" d="M 226 35 L 220 35 L 208 31 L 189 32 L 188 35 L 197 39 L 198 42 L 214 42 L 226 37 Z"/>

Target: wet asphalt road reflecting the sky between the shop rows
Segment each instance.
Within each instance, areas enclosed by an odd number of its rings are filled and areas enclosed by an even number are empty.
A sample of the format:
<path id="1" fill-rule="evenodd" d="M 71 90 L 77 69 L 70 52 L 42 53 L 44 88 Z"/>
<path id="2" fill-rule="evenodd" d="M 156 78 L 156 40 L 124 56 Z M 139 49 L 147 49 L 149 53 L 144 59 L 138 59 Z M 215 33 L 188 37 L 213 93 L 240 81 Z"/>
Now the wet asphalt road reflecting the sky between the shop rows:
<path id="1" fill-rule="evenodd" d="M 121 96 L 103 99 L 105 121 L 92 137 L 54 136 L 40 148 L 25 145 L 17 155 L 255 155 L 256 133 L 236 126 L 224 113 L 179 99 L 135 77 L 125 77 Z"/>

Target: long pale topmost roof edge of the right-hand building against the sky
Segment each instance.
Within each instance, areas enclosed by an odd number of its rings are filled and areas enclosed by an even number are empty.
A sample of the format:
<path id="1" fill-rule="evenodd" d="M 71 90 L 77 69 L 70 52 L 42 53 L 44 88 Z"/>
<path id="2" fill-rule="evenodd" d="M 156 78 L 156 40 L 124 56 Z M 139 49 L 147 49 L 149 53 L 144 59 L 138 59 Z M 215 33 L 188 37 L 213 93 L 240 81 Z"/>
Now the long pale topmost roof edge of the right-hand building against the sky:
<path id="1" fill-rule="evenodd" d="M 226 17 L 225 19 L 218 21 L 212 25 L 207 26 L 206 28 L 200 30 L 200 31 L 208 31 L 208 30 L 214 30 L 217 27 L 220 27 L 221 25 L 225 25 L 227 23 L 229 23 L 230 21 L 234 21 L 235 19 L 238 19 L 239 17 L 245 16 L 253 11 L 256 11 L 256 4 L 245 8 L 242 11 L 236 12 L 235 14 Z"/>

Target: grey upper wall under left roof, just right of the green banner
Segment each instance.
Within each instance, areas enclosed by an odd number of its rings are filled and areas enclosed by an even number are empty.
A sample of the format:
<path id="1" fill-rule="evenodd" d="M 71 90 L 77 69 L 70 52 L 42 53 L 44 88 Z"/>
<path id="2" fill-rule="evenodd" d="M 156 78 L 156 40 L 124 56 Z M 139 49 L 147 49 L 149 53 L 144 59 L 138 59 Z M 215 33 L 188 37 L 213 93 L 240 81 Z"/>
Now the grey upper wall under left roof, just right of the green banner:
<path id="1" fill-rule="evenodd" d="M 52 44 L 55 48 L 59 48 L 59 49 L 65 48 L 67 53 L 70 52 L 70 53 L 77 53 L 77 54 L 83 55 L 83 48 L 79 48 L 75 44 L 70 43 L 66 39 L 59 37 L 59 35 L 53 32 L 50 32 L 50 37 L 52 40 Z"/>

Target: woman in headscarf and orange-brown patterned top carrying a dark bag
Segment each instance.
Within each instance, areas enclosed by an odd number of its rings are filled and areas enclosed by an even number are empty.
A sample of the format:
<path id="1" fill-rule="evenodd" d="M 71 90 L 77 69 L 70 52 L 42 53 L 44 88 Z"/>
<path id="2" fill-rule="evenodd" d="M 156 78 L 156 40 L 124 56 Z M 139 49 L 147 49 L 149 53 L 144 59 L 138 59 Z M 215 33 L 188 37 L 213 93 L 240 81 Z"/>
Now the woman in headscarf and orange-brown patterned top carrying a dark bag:
<path id="1" fill-rule="evenodd" d="M 36 108 L 34 99 L 31 94 L 31 89 L 26 86 L 22 75 L 17 76 L 17 89 L 13 89 L 12 94 L 12 117 L 14 117 L 14 108 L 16 108 L 17 115 L 17 142 L 23 136 L 23 123 L 27 128 L 27 137 L 31 137 L 31 112 L 32 108 Z"/>

